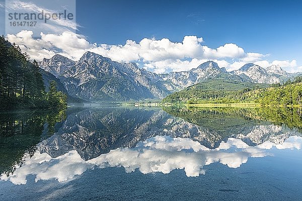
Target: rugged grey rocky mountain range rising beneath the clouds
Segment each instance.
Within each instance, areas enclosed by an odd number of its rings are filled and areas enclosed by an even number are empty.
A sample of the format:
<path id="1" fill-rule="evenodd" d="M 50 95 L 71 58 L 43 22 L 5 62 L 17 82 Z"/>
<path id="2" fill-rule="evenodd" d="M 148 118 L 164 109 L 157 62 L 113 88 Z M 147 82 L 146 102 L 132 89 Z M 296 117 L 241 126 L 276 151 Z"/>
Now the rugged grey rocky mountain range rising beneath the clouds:
<path id="1" fill-rule="evenodd" d="M 93 102 L 161 99 L 185 87 L 221 77 L 237 83 L 273 84 L 298 75 L 280 66 L 265 69 L 252 63 L 228 72 L 213 61 L 189 71 L 157 74 L 135 63 L 119 63 L 92 52 L 86 52 L 78 61 L 56 54 L 50 59 L 44 58 L 39 65 L 56 77 L 58 85 L 63 85 L 69 96 Z"/>

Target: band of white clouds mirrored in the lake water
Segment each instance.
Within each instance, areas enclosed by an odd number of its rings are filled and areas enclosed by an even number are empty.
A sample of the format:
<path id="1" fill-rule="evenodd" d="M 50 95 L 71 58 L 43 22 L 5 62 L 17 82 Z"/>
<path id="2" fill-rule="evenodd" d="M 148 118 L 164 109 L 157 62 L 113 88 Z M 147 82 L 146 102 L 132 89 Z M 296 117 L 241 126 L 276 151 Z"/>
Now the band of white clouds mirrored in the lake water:
<path id="1" fill-rule="evenodd" d="M 221 142 L 216 149 L 208 149 L 196 141 L 185 138 L 156 136 L 137 144 L 135 148 L 118 148 L 107 154 L 85 161 L 77 151 L 51 158 L 47 153 L 36 152 L 27 158 L 22 167 L 13 174 L 2 175 L 2 180 L 14 184 L 26 184 L 27 175 L 35 175 L 35 181 L 57 179 L 59 182 L 71 180 L 87 169 L 105 167 L 124 167 L 126 172 L 138 169 L 140 172 L 169 173 L 174 169 L 184 169 L 187 176 L 205 174 L 204 165 L 219 162 L 230 168 L 238 168 L 249 157 L 272 156 L 270 150 L 300 149 L 302 137 L 289 137 L 283 144 L 266 141 L 255 147 L 235 138 Z"/>

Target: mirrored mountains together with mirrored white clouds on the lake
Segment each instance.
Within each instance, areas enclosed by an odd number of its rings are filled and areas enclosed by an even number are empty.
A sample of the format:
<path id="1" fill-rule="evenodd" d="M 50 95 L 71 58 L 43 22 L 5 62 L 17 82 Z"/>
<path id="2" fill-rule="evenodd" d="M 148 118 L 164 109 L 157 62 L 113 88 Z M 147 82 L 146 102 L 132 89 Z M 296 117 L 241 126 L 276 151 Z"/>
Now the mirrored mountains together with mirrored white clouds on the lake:
<path id="1" fill-rule="evenodd" d="M 301 148 L 298 124 L 269 119 L 257 109 L 164 110 L 70 108 L 55 133 L 40 138 L 33 154 L 24 154 L 22 164 L 12 163 L 1 179 L 25 184 L 34 175 L 35 181 L 62 182 L 105 167 L 144 174 L 184 169 L 187 176 L 199 176 L 211 163 L 238 168 L 250 157 L 273 156 L 274 149 Z M 301 118 L 297 111 L 289 115 Z"/>

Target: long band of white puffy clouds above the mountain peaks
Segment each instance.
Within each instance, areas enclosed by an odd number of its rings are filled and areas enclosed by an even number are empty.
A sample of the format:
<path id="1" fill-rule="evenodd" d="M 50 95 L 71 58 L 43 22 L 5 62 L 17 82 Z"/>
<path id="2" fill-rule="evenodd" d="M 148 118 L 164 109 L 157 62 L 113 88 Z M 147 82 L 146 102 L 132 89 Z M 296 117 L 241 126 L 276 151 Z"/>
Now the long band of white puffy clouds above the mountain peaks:
<path id="1" fill-rule="evenodd" d="M 182 42 L 172 42 L 168 38 L 144 38 L 139 42 L 127 40 L 124 45 L 91 43 L 85 37 L 71 32 L 41 33 L 41 38 L 38 39 L 32 36 L 32 31 L 21 31 L 16 35 L 9 34 L 7 38 L 36 60 L 50 58 L 54 54 L 78 60 L 85 52 L 91 51 L 115 61 L 136 62 L 141 64 L 141 67 L 157 73 L 190 70 L 208 60 L 217 62 L 228 71 L 239 69 L 251 62 L 262 67 L 280 65 L 290 72 L 302 70 L 302 67 L 297 67 L 296 60 L 265 60 L 269 54 L 245 52 L 242 47 L 233 43 L 210 48 L 197 36 L 185 36 Z"/>

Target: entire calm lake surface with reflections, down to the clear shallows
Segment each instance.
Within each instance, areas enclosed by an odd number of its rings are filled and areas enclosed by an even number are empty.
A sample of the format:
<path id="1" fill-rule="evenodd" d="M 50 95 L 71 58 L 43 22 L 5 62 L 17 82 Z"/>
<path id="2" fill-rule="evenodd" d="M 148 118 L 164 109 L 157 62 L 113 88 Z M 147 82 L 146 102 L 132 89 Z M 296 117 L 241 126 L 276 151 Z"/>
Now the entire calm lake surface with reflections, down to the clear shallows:
<path id="1" fill-rule="evenodd" d="M 10 163 L 1 164 L 0 197 L 302 199 L 298 124 L 271 123 L 253 110 L 166 111 L 173 115 L 125 107 L 70 108 L 48 119 L 19 114 L 17 128 L 20 119 L 35 122 L 23 129 L 3 129 L 11 123 L 3 116 L 1 155 Z M 13 148 L 18 154 L 8 154 Z"/>

